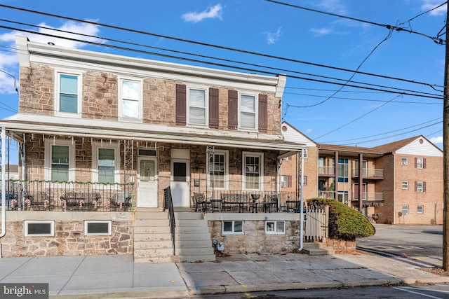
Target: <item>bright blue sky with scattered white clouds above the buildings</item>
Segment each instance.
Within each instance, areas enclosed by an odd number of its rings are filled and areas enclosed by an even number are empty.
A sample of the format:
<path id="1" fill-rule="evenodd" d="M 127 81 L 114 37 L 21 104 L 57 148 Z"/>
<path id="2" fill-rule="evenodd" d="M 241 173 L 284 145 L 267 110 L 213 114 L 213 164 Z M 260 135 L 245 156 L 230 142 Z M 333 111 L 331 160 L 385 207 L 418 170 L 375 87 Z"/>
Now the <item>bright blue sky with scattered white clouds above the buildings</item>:
<path id="1" fill-rule="evenodd" d="M 123 1 L 78 0 L 67 1 L 64 5 L 53 0 L 0 0 L 0 4 L 6 6 L 91 20 L 151 34 L 121 31 L 4 7 L 0 7 L 0 15 L 1 19 L 8 21 L 86 34 L 91 37 L 75 38 L 103 45 L 138 48 L 152 53 L 225 64 L 226 67 L 222 68 L 237 71 L 233 67 L 248 68 L 251 69 L 250 72 L 288 74 L 283 97 L 283 120 L 319 143 L 370 147 L 422 134 L 442 148 L 441 85 L 444 78 L 445 46 L 431 38 L 445 32 L 441 32 L 441 29 L 445 25 L 446 5 L 429 10 L 443 4 L 443 0 L 281 1 L 358 20 L 264 0 L 128 1 L 126 4 Z M 404 30 L 390 32 L 380 25 L 396 26 Z M 5 21 L 0 21 L 0 26 L 69 35 Z M 18 78 L 15 34 L 18 34 L 16 30 L 0 28 L 0 69 Z M 37 34 L 21 34 L 29 36 L 31 41 L 51 41 L 59 46 L 214 67 L 200 62 L 117 50 Z M 264 55 L 201 46 L 169 37 Z M 100 38 L 138 43 L 157 49 Z M 441 39 L 445 39 L 445 34 Z M 221 60 L 170 53 L 161 49 Z M 381 76 L 351 72 L 356 69 Z M 0 72 L 0 118 L 15 114 L 18 108 L 14 80 L 4 72 Z M 338 82 L 340 85 L 328 82 Z M 349 85 L 363 85 L 366 88 Z M 401 95 L 391 90 L 418 93 L 425 97 Z"/>

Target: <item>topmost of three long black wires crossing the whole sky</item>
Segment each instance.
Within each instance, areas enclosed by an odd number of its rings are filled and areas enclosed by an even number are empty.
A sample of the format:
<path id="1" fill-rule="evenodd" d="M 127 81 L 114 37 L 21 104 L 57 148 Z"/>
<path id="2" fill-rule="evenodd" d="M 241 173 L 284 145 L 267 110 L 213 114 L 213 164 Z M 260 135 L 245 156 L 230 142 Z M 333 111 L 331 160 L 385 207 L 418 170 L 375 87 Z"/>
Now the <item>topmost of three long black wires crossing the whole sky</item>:
<path id="1" fill-rule="evenodd" d="M 28 12 L 28 13 L 36 13 L 36 14 L 40 14 L 40 15 L 47 15 L 47 16 L 50 16 L 50 17 L 53 17 L 53 18 L 62 18 L 62 19 L 65 19 L 65 20 L 72 20 L 72 21 L 76 21 L 76 22 L 83 22 L 83 23 L 87 23 L 87 24 L 91 24 L 91 25 L 108 27 L 108 28 L 112 28 L 112 29 L 119 29 L 119 30 L 133 32 L 133 33 L 138 33 L 138 34 L 145 34 L 145 35 L 149 35 L 149 36 L 156 36 L 156 37 L 163 38 L 163 39 L 171 39 L 171 40 L 174 40 L 174 41 L 182 41 L 182 42 L 185 42 L 185 43 L 194 43 L 194 44 L 200 45 L 200 46 L 219 48 L 219 49 L 222 49 L 222 50 L 230 50 L 230 51 L 234 51 L 234 52 L 238 52 L 238 53 L 257 55 L 257 56 L 272 58 L 272 59 L 276 59 L 276 60 L 284 60 L 284 61 L 288 61 L 288 62 L 296 62 L 296 63 L 301 63 L 301 64 L 308 64 L 308 65 L 311 65 L 311 66 L 314 66 L 314 67 L 325 67 L 325 68 L 328 68 L 328 69 L 335 69 L 335 70 L 338 70 L 338 71 L 348 71 L 348 72 L 354 73 L 354 71 L 352 71 L 350 69 L 343 69 L 343 68 L 340 68 L 340 67 L 331 67 L 331 66 L 324 65 L 324 64 L 317 64 L 317 63 L 314 63 L 314 62 L 305 62 L 305 61 L 302 61 L 302 60 L 295 60 L 293 58 L 279 57 L 279 56 L 268 55 L 268 54 L 264 54 L 264 53 L 257 53 L 257 52 L 253 52 L 253 51 L 249 51 L 249 50 L 241 50 L 241 49 L 237 49 L 237 48 L 230 48 L 230 47 L 226 47 L 226 46 L 218 46 L 218 45 L 214 45 L 214 44 L 211 44 L 211 43 L 203 43 L 203 42 L 200 42 L 200 41 L 191 41 L 191 40 L 188 40 L 188 39 L 180 39 L 180 38 L 177 38 L 177 37 L 165 36 L 165 35 L 162 35 L 162 34 L 155 34 L 155 33 L 152 33 L 152 32 L 144 32 L 144 31 L 141 31 L 141 30 L 129 29 L 129 28 L 124 28 L 124 27 L 118 27 L 118 26 L 114 26 L 114 25 L 107 25 L 107 24 L 103 24 L 103 23 L 99 23 L 99 22 L 93 22 L 93 21 L 88 21 L 88 20 L 81 20 L 81 19 L 76 19 L 76 18 L 70 18 L 70 17 L 65 17 L 65 16 L 62 16 L 62 15 L 55 15 L 55 14 L 51 14 L 51 13 L 43 13 L 41 11 L 32 11 L 32 10 L 29 10 L 27 8 L 18 8 L 18 7 L 15 7 L 15 6 L 7 6 L 5 4 L 0 4 L 0 7 L 15 9 L 15 10 L 18 10 L 18 11 L 25 11 L 25 12 Z M 408 83 L 416 83 L 416 84 L 426 85 L 426 86 L 428 86 L 430 88 L 433 88 L 433 89 L 435 89 L 434 88 L 435 86 L 443 88 L 442 85 L 422 83 L 422 82 L 408 80 L 408 79 L 394 78 L 394 77 L 391 77 L 391 76 L 383 76 L 383 75 L 378 75 L 378 74 L 370 74 L 370 73 L 361 72 L 361 71 L 359 71 L 358 74 L 363 74 L 363 75 L 367 75 L 367 76 L 376 76 L 376 77 L 380 77 L 380 78 L 387 78 L 387 79 L 398 80 L 398 81 L 404 81 L 404 82 L 408 82 Z"/>

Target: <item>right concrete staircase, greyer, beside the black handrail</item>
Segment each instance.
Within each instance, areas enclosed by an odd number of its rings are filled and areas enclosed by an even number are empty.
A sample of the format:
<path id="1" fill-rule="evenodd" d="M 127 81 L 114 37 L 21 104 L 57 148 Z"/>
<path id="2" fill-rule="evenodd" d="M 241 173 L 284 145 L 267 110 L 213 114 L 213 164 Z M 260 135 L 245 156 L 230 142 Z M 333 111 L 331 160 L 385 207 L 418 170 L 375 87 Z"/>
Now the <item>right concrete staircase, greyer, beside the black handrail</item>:
<path id="1" fill-rule="evenodd" d="M 213 261 L 212 241 L 208 223 L 202 213 L 175 212 L 175 261 Z"/>

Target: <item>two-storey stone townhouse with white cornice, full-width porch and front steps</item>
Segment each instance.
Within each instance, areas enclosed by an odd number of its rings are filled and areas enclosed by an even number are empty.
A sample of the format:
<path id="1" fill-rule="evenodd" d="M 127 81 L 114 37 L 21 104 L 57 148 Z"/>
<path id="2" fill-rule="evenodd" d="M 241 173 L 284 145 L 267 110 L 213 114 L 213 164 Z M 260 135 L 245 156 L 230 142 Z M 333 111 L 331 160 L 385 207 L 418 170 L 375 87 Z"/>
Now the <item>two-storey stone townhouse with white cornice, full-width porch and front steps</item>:
<path id="1" fill-rule="evenodd" d="M 236 252 L 297 246 L 297 214 L 279 213 L 297 200 L 281 192 L 281 161 L 304 148 L 281 134 L 285 76 L 16 45 L 19 112 L 0 123 L 20 165 L 2 182 L 2 256 L 213 260 L 214 237 Z"/>

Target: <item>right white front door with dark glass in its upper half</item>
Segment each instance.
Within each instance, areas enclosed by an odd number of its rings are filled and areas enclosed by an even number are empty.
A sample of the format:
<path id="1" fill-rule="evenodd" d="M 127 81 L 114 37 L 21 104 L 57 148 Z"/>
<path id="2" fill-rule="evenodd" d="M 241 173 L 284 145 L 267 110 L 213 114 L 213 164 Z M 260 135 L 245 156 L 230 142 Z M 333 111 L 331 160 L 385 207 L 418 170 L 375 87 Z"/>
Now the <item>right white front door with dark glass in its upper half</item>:
<path id="1" fill-rule="evenodd" d="M 190 207 L 190 161 L 186 159 L 171 160 L 171 197 L 173 207 Z"/>

